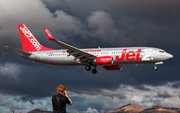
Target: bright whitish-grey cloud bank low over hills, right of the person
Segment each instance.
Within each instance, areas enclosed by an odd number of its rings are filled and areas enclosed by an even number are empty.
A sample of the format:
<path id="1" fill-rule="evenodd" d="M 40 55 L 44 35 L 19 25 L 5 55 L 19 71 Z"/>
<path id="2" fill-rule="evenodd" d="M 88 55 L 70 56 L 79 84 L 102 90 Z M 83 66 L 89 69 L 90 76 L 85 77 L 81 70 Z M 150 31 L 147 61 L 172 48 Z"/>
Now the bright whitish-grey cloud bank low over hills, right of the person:
<path id="1" fill-rule="evenodd" d="M 178 107 L 179 105 L 179 89 L 171 88 L 168 84 L 151 86 L 145 85 L 146 88 L 151 90 L 139 90 L 130 85 L 120 85 L 116 90 L 102 90 L 98 94 L 78 94 L 71 92 L 70 97 L 73 101 L 79 102 L 80 104 L 76 104 L 74 107 L 79 108 L 78 106 L 91 106 L 94 109 L 100 110 L 111 110 L 118 108 L 120 106 L 126 105 L 128 103 L 142 106 L 148 108 L 153 105 L 159 106 L 174 106 Z M 118 95 L 114 95 L 113 98 L 107 93 L 119 93 L 124 92 L 125 98 L 120 98 Z M 169 95 L 167 97 L 167 95 Z M 163 97 L 165 96 L 165 97 Z M 78 98 L 78 99 L 76 99 Z M 80 99 L 83 98 L 83 99 Z M 94 103 L 94 104 L 91 104 Z M 83 104 L 83 105 L 81 105 Z M 73 108 L 74 109 L 74 108 Z M 85 109 L 85 108 L 82 108 Z M 79 111 L 82 109 L 79 108 Z"/>

